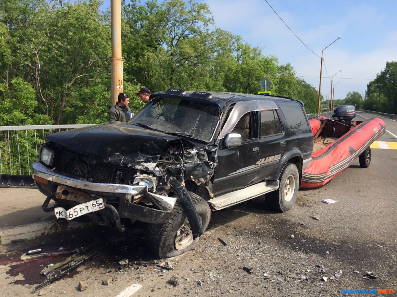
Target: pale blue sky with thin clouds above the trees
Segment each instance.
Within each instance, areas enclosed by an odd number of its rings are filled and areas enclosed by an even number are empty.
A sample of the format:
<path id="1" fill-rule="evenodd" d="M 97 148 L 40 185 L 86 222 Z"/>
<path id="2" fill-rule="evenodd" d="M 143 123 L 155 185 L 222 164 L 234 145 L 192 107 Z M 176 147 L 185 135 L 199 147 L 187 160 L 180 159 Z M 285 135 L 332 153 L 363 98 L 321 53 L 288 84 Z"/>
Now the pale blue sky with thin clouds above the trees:
<path id="1" fill-rule="evenodd" d="M 144 1 L 143 1 L 144 2 Z M 291 65 L 296 75 L 316 89 L 319 87 L 321 51 L 336 38 L 342 38 L 324 50 L 321 90 L 331 90 L 335 99 L 344 99 L 349 91 L 364 95 L 367 83 L 384 69 L 386 61 L 397 61 L 396 0 L 381 1 L 299 1 L 268 0 L 307 49 L 284 25 L 264 0 L 206 0 L 215 26 L 241 35 L 245 42 L 274 55 L 279 63 Z M 102 8 L 110 6 L 104 0 Z M 328 72 L 328 74 L 327 74 Z M 355 78 L 355 79 L 352 79 Z M 364 79 L 357 79 L 364 78 Z M 367 80 L 366 80 L 367 79 Z M 370 80 L 368 80 L 370 79 Z"/>

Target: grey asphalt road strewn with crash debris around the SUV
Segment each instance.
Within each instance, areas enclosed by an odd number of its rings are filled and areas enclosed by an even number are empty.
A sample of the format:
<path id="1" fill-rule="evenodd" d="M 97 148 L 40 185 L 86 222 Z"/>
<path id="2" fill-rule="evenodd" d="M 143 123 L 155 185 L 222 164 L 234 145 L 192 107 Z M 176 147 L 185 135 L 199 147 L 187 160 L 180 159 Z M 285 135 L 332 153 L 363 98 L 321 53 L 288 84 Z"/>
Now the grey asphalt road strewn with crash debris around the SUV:
<path id="1" fill-rule="evenodd" d="M 357 120 L 362 119 L 360 116 L 372 117 L 363 112 L 358 114 Z M 389 132 L 378 141 L 397 142 L 397 122 L 383 120 Z M 47 294 L 111 297 L 132 284 L 142 286 L 133 296 L 143 297 L 231 293 L 236 296 L 340 296 L 341 289 L 394 289 L 396 294 L 396 167 L 397 150 L 374 148 L 368 168 L 360 168 L 357 159 L 327 185 L 300 190 L 294 208 L 286 213 L 271 211 L 264 197 L 214 212 L 208 231 L 197 247 L 169 259 L 174 270 L 164 274 L 159 274 L 153 263 L 164 261 L 148 253 L 144 246 L 145 234 L 140 232 L 123 234 L 121 238 L 113 232 L 93 228 L 2 246 L 0 286 L 10 296 L 29 296 L 32 287 L 43 280 L 39 276 L 43 267 L 40 265 L 60 261 L 53 258 L 17 263 L 16 259 L 27 249 L 42 247 L 43 251 L 49 251 L 61 246 L 74 249 L 87 246 L 93 240 L 111 238 L 102 255 L 78 268 L 78 273 L 46 287 Z M 337 203 L 322 203 L 327 198 Z M 122 257 L 129 259 L 131 267 L 116 272 Z M 147 266 L 139 265 L 141 261 L 146 261 Z M 252 268 L 251 273 L 243 267 Z M 363 278 L 368 271 L 378 277 Z M 270 278 L 266 279 L 264 273 Z M 288 277 L 291 274 L 307 276 L 308 280 Z M 179 278 L 178 286 L 169 282 L 172 276 Z M 325 282 L 323 277 L 328 280 Z M 102 280 L 108 279 L 112 279 L 112 283 L 103 286 Z M 87 291 L 77 289 L 81 280 L 87 280 Z"/>

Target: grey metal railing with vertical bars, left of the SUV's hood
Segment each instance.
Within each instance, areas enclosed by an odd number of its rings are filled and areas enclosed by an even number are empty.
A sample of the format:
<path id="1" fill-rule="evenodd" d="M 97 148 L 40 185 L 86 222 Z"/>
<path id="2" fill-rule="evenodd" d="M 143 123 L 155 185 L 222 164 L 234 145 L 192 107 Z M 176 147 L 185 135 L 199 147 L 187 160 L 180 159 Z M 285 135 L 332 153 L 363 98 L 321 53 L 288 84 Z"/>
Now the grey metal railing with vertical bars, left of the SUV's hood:
<path id="1" fill-rule="evenodd" d="M 54 132 L 91 125 L 35 125 L 0 127 L 0 173 L 4 176 L 31 174 L 32 160 L 38 160 L 41 143 Z M 4 176 L 3 176 L 4 175 Z"/>

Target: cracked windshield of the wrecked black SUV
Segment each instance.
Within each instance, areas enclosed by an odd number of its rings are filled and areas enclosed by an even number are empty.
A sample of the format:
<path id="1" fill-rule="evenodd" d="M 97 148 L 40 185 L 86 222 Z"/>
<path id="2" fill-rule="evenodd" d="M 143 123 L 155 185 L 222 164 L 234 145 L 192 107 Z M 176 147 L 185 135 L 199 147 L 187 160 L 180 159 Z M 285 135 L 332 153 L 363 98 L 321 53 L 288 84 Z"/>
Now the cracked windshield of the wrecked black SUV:
<path id="1" fill-rule="evenodd" d="M 208 102 L 155 98 L 130 124 L 210 141 L 219 122 L 219 108 Z"/>

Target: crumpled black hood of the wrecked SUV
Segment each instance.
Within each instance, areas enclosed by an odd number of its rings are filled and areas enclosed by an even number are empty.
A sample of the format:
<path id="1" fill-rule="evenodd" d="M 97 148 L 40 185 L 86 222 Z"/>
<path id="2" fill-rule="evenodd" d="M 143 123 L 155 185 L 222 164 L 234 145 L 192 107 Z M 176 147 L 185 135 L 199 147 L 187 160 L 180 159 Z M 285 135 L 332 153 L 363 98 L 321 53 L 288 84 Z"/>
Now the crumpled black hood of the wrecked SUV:
<path id="1" fill-rule="evenodd" d="M 148 162 L 154 167 L 170 141 L 181 138 L 125 123 L 99 124 L 47 136 L 48 141 L 73 152 L 135 168 Z"/>

